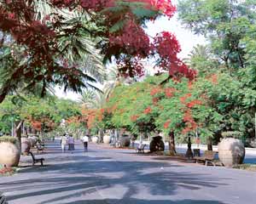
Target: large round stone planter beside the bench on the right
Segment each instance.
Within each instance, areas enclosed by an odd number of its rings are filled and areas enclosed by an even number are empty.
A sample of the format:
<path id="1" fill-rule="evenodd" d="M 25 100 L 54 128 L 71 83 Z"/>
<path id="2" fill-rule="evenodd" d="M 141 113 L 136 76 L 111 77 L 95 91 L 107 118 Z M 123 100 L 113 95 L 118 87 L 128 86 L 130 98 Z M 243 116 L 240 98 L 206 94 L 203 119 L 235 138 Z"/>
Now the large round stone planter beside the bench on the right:
<path id="1" fill-rule="evenodd" d="M 244 156 L 245 148 L 240 139 L 225 138 L 218 144 L 218 158 L 226 167 L 241 164 Z"/>

